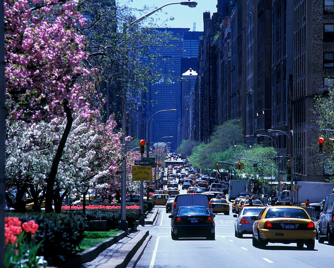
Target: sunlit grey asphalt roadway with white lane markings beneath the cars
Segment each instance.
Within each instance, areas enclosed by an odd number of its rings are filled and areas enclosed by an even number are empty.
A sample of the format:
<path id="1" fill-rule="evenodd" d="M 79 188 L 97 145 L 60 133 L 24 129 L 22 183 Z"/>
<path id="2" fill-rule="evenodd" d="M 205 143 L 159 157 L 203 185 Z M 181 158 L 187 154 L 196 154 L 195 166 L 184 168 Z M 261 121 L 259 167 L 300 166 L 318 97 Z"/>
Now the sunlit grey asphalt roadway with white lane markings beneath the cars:
<path id="1" fill-rule="evenodd" d="M 179 188 L 181 188 L 179 186 Z M 181 190 L 181 193 L 185 190 Z M 306 246 L 298 250 L 296 244 L 269 244 L 266 249 L 252 246 L 252 235 L 234 236 L 233 213 L 216 214 L 214 241 L 204 238 L 180 238 L 172 240 L 171 227 L 165 207 L 159 207 L 155 226 L 139 227 L 149 230 L 152 239 L 148 243 L 136 268 L 166 267 L 333 267 L 334 247 L 327 242 L 315 249 Z M 231 203 L 230 203 L 231 210 Z"/>

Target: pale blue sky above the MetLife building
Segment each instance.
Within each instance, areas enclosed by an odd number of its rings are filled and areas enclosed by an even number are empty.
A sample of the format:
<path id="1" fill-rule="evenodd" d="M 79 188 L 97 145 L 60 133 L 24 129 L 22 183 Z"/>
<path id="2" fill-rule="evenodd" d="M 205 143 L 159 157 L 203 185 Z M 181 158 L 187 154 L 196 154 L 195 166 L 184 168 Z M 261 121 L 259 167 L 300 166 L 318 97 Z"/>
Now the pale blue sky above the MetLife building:
<path id="1" fill-rule="evenodd" d="M 141 9 L 144 5 L 148 7 L 152 7 L 149 11 L 154 10 L 154 7 L 160 7 L 167 3 L 173 2 L 181 2 L 187 0 L 133 0 L 130 5 L 132 7 Z M 124 0 L 120 0 L 120 3 L 124 3 Z M 203 31 L 203 12 L 210 11 L 211 15 L 213 12 L 217 11 L 216 5 L 217 0 L 196 0 L 198 3 L 195 8 L 190 8 L 188 6 L 183 5 L 170 5 L 164 7 L 162 11 L 156 12 L 152 15 L 153 19 L 160 19 L 159 23 L 166 21 L 167 27 L 174 27 L 174 28 L 190 28 L 192 30 L 193 23 L 196 23 L 196 31 Z M 147 11 L 146 13 L 148 13 Z M 144 13 L 144 14 L 146 14 Z M 167 14 L 165 14 L 167 13 Z M 142 14 L 142 15 L 144 15 Z M 140 14 L 137 13 L 137 18 L 140 17 Z M 174 17 L 174 20 L 169 20 L 170 17 Z M 148 18 L 146 19 L 148 20 Z"/>

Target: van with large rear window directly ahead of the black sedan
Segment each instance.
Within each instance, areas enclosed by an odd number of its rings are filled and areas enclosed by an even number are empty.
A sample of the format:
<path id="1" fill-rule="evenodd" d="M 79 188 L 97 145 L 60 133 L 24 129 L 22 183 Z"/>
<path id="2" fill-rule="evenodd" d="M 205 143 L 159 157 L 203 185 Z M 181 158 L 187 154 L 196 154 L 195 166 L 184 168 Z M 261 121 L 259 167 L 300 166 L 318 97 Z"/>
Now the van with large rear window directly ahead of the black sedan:
<path id="1" fill-rule="evenodd" d="M 171 215 L 174 215 L 176 210 L 182 206 L 205 206 L 212 213 L 211 202 L 204 194 L 180 194 L 175 196 Z"/>

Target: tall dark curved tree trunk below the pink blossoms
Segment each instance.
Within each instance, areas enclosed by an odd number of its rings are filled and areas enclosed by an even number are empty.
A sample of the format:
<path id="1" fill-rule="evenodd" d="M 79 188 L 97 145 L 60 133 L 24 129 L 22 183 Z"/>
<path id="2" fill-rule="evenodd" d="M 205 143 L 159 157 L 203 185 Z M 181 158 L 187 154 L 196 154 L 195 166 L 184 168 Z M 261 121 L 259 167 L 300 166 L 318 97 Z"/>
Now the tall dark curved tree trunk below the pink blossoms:
<path id="1" fill-rule="evenodd" d="M 64 107 L 64 111 L 66 113 L 67 122 L 66 122 L 66 127 L 64 129 L 63 135 L 60 139 L 56 155 L 53 158 L 49 176 L 47 178 L 46 196 L 45 196 L 45 212 L 53 212 L 53 209 L 52 209 L 53 186 L 54 186 L 54 183 L 56 181 L 56 175 L 57 175 L 61 155 L 64 151 L 65 144 L 66 144 L 66 141 L 67 141 L 67 137 L 69 135 L 69 132 L 71 131 L 71 127 L 72 127 L 72 123 L 73 123 L 72 112 L 71 112 L 71 110 L 68 106 L 68 100 L 67 99 L 65 99 L 63 101 L 63 107 Z M 57 209 L 57 210 L 59 210 L 59 209 Z"/>

